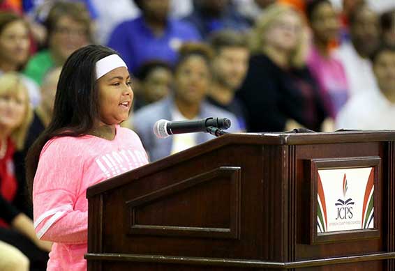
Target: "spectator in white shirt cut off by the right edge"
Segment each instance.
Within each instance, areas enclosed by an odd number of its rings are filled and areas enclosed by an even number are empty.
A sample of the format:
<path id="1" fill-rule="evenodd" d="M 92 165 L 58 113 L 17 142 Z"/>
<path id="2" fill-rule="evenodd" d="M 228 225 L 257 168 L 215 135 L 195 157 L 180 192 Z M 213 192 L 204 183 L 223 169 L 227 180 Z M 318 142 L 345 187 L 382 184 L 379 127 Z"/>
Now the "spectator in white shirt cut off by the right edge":
<path id="1" fill-rule="evenodd" d="M 352 97 L 338 114 L 336 127 L 395 130 L 395 47 L 381 45 L 371 61 L 380 91 Z"/>

